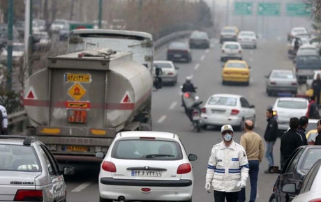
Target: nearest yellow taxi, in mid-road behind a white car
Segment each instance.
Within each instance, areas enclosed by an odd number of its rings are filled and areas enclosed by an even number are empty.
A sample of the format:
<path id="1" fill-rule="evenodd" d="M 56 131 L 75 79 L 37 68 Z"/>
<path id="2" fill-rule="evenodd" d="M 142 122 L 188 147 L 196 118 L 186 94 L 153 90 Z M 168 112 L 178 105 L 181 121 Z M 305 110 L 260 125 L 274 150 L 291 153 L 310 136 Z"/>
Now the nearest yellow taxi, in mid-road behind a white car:
<path id="1" fill-rule="evenodd" d="M 222 71 L 222 84 L 227 82 L 241 82 L 250 84 L 250 66 L 246 61 L 227 61 Z"/>

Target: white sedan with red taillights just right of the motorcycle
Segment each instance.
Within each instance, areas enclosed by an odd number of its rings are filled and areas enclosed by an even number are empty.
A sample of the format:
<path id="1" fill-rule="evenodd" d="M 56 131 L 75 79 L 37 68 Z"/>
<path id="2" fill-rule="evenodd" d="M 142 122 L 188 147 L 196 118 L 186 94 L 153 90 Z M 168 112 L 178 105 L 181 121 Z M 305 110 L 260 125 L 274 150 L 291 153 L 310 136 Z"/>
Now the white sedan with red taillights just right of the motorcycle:
<path id="1" fill-rule="evenodd" d="M 208 125 L 221 126 L 230 124 L 241 130 L 244 121 L 255 123 L 255 107 L 241 95 L 214 94 L 202 107 L 201 121 L 204 129 Z"/>

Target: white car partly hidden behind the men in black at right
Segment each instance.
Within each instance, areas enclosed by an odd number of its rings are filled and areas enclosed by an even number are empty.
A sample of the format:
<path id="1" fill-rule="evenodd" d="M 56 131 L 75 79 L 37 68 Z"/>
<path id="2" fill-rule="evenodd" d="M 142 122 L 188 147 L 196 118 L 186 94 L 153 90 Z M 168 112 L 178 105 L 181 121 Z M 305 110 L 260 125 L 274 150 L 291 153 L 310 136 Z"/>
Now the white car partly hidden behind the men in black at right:
<path id="1" fill-rule="evenodd" d="M 306 116 L 308 100 L 306 98 L 278 98 L 273 106 L 279 130 L 288 130 L 290 118 Z"/>

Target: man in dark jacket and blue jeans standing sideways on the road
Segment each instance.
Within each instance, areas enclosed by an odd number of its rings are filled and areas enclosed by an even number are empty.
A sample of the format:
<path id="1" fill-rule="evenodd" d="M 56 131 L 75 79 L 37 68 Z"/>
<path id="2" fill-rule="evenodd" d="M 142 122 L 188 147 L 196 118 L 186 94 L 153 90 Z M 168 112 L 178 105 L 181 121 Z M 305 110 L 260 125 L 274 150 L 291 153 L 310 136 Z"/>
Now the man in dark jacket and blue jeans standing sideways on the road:
<path id="1" fill-rule="evenodd" d="M 271 171 L 271 166 L 274 166 L 273 146 L 278 138 L 278 123 L 276 122 L 276 118 L 274 118 L 272 107 L 267 109 L 267 113 L 265 115 L 267 116 L 267 129 L 264 132 L 265 157 L 269 162 L 269 168 L 264 171 L 264 173 L 273 173 Z"/>

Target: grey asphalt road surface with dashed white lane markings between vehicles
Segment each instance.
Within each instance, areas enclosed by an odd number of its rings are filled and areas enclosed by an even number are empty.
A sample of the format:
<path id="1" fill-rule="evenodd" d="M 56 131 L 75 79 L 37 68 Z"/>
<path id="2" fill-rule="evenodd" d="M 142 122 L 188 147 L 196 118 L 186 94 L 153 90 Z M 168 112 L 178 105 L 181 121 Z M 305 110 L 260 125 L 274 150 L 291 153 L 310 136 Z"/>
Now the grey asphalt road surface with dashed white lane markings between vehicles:
<path id="1" fill-rule="evenodd" d="M 267 97 L 265 93 L 265 75 L 273 69 L 291 69 L 292 61 L 286 54 L 286 44 L 278 42 L 258 43 L 257 49 L 244 49 L 244 60 L 251 65 L 250 86 L 228 85 L 221 83 L 223 63 L 220 61 L 221 45 L 218 40 L 211 40 L 210 49 L 192 49 L 193 62 L 177 63 L 179 66 L 179 79 L 176 86 L 164 86 L 163 89 L 153 93 L 152 116 L 153 130 L 173 132 L 179 135 L 184 143 L 187 153 L 197 155 L 197 161 L 192 162 L 195 177 L 193 201 L 214 201 L 213 194 L 207 194 L 204 189 L 205 174 L 209 153 L 214 144 L 222 141 L 218 128 L 209 127 L 200 133 L 193 131 L 190 121 L 181 107 L 179 86 L 184 83 L 186 76 L 193 76 L 193 83 L 198 87 L 197 95 L 204 102 L 214 93 L 233 93 L 243 95 L 250 104 L 255 105 L 257 127 L 255 132 L 263 137 L 267 121 L 265 110 L 273 105 L 276 98 Z M 166 46 L 157 50 L 155 58 L 165 60 Z M 234 132 L 234 141 L 239 142 L 242 132 Z M 279 165 L 280 140 L 274 146 L 274 161 Z M 276 174 L 265 174 L 267 160 L 260 164 L 257 185 L 257 201 L 269 201 Z M 81 170 L 80 170 L 81 169 Z M 98 201 L 98 170 L 99 165 L 77 166 L 77 174 L 66 178 L 68 186 L 68 202 Z M 249 196 L 249 180 L 246 187 L 246 198 Z"/>

